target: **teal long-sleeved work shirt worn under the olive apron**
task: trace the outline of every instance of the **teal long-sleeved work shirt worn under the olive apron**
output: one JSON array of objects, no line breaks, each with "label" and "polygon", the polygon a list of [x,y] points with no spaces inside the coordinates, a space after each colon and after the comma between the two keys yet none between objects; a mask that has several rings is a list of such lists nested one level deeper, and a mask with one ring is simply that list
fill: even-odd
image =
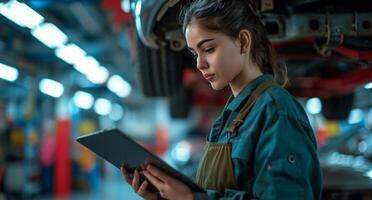
[{"label": "teal long-sleeved work shirt worn under the olive apron", "polygon": [[[229,99],[211,128],[209,142],[227,142],[228,125],[253,90],[269,79],[273,77],[262,75]],[[207,190],[195,193],[194,199],[321,198],[314,133],[304,109],[285,89],[275,86],[264,91],[230,142],[238,189],[226,188],[223,194]]]}]

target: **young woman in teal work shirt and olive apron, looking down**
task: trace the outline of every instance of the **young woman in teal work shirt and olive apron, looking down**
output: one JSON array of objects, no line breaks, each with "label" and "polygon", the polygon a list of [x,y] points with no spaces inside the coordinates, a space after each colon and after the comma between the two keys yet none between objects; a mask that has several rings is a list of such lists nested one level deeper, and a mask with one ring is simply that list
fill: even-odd
[{"label": "young woman in teal work shirt and olive apron, looking down", "polygon": [[[215,90],[232,96],[214,122],[192,193],[183,183],[148,166],[142,173],[160,198],[320,199],[322,177],[316,140],[301,105],[281,86],[278,65],[260,18],[247,0],[197,0],[183,12],[187,45]],[[148,182],[126,181],[145,199],[157,199]]]}]

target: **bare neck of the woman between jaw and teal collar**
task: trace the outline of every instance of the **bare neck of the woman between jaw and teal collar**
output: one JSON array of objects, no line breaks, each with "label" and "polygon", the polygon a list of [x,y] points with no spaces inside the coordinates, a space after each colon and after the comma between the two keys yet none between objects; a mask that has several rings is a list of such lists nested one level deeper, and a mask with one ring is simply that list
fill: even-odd
[{"label": "bare neck of the woman between jaw and teal collar", "polygon": [[247,66],[245,67],[231,82],[230,89],[234,97],[243,90],[243,88],[248,85],[252,80],[261,76],[262,72],[258,66]]}]

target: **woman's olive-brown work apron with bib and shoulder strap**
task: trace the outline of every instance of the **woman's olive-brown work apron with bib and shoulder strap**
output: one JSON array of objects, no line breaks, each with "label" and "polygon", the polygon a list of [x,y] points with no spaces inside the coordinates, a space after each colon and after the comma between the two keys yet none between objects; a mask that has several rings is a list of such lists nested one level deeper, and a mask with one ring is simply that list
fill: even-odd
[{"label": "woman's olive-brown work apron with bib and shoulder strap", "polygon": [[[251,94],[248,101],[239,111],[236,118],[229,124],[227,129],[228,139],[225,144],[207,142],[196,173],[197,183],[205,189],[216,190],[223,193],[225,188],[237,189],[231,160],[230,139],[236,135],[236,130],[243,123],[249,110],[254,105],[258,96],[271,86],[276,85],[273,80],[261,83]],[[221,127],[219,133],[221,133]]]}]

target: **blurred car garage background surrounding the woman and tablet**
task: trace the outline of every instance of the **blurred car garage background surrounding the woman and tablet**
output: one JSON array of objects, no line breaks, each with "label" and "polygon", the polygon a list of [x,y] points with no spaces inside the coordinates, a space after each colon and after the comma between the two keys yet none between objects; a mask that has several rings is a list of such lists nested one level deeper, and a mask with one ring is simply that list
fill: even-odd
[{"label": "blurred car garage background surrounding the woman and tablet", "polygon": [[[0,199],[141,199],[75,142],[104,128],[194,177],[230,91],[194,67],[177,17],[185,3],[0,0]],[[255,8],[316,134],[323,199],[372,199],[372,5]]]}]

